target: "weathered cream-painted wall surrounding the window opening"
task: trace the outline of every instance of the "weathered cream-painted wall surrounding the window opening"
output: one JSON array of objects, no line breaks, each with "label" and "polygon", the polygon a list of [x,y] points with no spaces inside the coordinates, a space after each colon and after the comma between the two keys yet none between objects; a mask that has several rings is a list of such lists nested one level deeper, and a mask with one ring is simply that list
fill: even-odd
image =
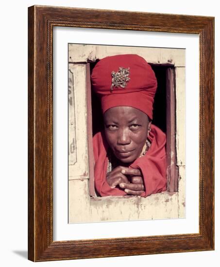
[{"label": "weathered cream-painted wall surrounding the window opening", "polygon": [[[137,53],[149,63],[171,63],[175,67],[179,189],[175,193],[163,192],[147,198],[93,199],[88,191],[85,63],[124,53]],[[72,83],[69,79],[69,223],[185,217],[185,50],[70,44],[69,77],[72,77]]]}]

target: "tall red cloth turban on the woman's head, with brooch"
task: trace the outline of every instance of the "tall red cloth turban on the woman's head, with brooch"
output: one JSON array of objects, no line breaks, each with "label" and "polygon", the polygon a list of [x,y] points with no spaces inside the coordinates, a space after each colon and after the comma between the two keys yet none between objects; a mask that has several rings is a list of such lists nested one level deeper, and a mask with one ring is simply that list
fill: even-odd
[{"label": "tall red cloth turban on the woman's head, with brooch", "polygon": [[116,106],[137,108],[152,119],[157,81],[152,67],[136,54],[101,59],[91,75],[93,90],[100,96],[102,112]]}]

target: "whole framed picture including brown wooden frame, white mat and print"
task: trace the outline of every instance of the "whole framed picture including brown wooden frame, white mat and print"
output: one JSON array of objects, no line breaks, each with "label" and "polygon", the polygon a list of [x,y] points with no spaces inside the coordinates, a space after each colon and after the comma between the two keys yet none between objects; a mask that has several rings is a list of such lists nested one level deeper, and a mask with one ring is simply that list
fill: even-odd
[{"label": "whole framed picture including brown wooden frame, white mat and print", "polygon": [[[28,20],[28,258],[214,250],[214,17],[32,6]],[[148,32],[161,42],[125,46]],[[162,48],[164,33],[196,34],[196,52]]]}]

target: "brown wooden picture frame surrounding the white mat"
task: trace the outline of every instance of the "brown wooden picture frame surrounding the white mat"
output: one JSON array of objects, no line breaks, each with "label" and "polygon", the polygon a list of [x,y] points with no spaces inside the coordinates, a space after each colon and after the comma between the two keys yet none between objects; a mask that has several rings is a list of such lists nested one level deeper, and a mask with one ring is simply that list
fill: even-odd
[{"label": "brown wooden picture frame surrounding the white mat", "polygon": [[[32,6],[28,13],[28,258],[32,261],[214,250],[214,18]],[[53,27],[197,33],[199,233],[53,241]]]}]

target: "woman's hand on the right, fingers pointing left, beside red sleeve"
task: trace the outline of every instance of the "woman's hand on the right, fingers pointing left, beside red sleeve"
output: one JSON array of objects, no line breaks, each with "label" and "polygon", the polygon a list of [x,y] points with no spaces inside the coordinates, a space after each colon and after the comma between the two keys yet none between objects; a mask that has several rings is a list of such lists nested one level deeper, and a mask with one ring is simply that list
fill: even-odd
[{"label": "woman's hand on the right, fingers pointing left, beside red sleeve", "polygon": [[124,189],[128,195],[140,196],[144,192],[144,182],[141,171],[137,168],[124,168],[122,174],[129,177],[131,183],[120,183],[120,188]]}]

